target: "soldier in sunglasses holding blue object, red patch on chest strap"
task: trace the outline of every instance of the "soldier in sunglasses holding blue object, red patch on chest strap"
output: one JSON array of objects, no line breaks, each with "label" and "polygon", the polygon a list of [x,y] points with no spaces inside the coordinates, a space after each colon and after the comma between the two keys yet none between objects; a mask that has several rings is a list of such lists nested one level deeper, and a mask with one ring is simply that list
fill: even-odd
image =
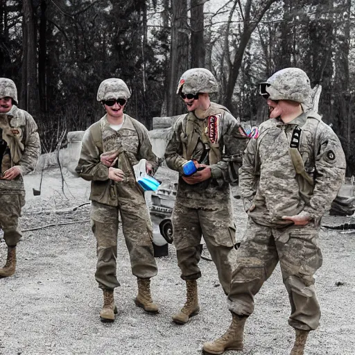
[{"label": "soldier in sunglasses holding blue object, red patch on chest strap", "polygon": [[[175,122],[166,147],[166,164],[180,173],[173,210],[173,239],[181,277],[187,285],[187,301],[173,315],[177,324],[188,322],[200,310],[197,279],[201,277],[201,235],[226,294],[230,292],[236,259],[230,182],[238,180],[247,137],[227,108],[209,100],[209,93],[217,91],[216,78],[207,69],[190,69],[182,75],[178,94],[189,113]],[[187,177],[182,166],[190,159],[202,170]]]}]

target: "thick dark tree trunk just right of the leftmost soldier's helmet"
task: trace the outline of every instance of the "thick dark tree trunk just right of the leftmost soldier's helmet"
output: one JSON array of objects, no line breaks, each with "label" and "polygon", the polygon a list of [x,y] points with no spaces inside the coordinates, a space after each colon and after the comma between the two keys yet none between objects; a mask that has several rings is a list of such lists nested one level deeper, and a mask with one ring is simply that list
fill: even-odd
[{"label": "thick dark tree trunk just right of the leftmost soldier's helmet", "polygon": [[31,0],[23,0],[22,11],[24,20],[23,33],[23,58],[22,58],[22,85],[21,107],[31,114],[39,112],[39,94],[37,87],[37,61],[36,61],[36,31],[33,18],[33,5]]}]

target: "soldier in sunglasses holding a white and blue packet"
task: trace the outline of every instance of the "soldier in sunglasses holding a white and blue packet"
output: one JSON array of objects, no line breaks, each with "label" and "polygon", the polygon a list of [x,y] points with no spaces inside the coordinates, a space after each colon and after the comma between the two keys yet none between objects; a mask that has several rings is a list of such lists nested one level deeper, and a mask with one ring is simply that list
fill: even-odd
[{"label": "soldier in sunglasses holding a white and blue packet", "polygon": [[144,192],[135,179],[132,166],[146,159],[147,172],[153,173],[159,159],[152,151],[148,131],[138,121],[123,113],[130,90],[121,79],[104,80],[98,88],[97,100],[106,110],[82,141],[76,171],[92,181],[92,230],[97,241],[96,281],[103,289],[103,322],[113,322],[116,306],[117,232],[121,214],[123,236],[130,254],[132,274],[137,277],[137,306],[157,313],[150,296],[150,277],[157,275],[153,254],[153,228],[150,223]]}]

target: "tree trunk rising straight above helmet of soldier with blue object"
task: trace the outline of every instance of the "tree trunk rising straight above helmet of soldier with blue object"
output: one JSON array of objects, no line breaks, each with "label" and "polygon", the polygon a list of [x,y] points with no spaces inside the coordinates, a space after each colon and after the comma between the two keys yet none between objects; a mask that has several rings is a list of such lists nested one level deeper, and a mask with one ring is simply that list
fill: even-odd
[{"label": "tree trunk rising straight above helmet of soldier with blue object", "polygon": [[191,67],[205,67],[203,3],[191,0]]}]

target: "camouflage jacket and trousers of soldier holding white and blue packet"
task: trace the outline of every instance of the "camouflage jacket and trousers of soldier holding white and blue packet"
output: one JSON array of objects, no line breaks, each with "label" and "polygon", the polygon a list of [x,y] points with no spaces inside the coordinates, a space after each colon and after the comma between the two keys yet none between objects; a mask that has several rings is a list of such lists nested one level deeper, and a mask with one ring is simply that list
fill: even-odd
[{"label": "camouflage jacket and trousers of soldier holding white and blue packet", "polygon": [[[125,173],[123,182],[110,180],[108,167],[100,161],[101,153],[112,150],[119,150],[118,167]],[[103,289],[119,286],[116,278],[119,214],[133,275],[144,279],[157,275],[153,229],[144,193],[132,168],[140,159],[147,159],[155,168],[158,166],[159,159],[152,152],[148,131],[127,114],[119,131],[110,128],[105,115],[85,132],[76,171],[85,180],[92,181],[90,217],[98,254],[95,277]]]}]

